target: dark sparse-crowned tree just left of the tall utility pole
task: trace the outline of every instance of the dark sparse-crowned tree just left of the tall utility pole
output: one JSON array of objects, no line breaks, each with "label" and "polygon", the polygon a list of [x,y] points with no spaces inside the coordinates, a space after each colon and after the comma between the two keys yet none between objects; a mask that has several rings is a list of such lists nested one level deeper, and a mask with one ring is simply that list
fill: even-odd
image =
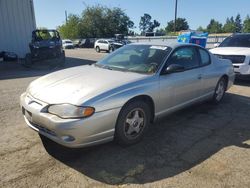
[{"label": "dark sparse-crowned tree just left of the tall utility pole", "polygon": [[152,17],[149,14],[144,14],[141,17],[139,28],[142,33],[153,32],[155,28],[160,26],[160,23],[157,20],[151,21]]}]

